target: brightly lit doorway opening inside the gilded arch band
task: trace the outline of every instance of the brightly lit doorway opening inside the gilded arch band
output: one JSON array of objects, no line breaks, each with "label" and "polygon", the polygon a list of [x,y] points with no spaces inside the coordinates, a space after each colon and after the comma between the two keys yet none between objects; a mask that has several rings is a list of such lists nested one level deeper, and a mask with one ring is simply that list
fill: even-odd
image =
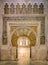
[{"label": "brightly lit doorway opening inside the gilded arch band", "polygon": [[30,59],[30,40],[26,36],[18,38],[18,59],[29,60]]}]

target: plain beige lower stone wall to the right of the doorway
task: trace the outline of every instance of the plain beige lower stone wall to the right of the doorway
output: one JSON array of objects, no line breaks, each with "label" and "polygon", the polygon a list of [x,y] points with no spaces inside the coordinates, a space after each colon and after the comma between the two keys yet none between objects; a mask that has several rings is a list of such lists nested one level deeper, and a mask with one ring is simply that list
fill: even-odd
[{"label": "plain beige lower stone wall to the right of the doorway", "polygon": [[32,47],[32,60],[46,60],[47,48],[45,45],[40,45],[39,48]]}]

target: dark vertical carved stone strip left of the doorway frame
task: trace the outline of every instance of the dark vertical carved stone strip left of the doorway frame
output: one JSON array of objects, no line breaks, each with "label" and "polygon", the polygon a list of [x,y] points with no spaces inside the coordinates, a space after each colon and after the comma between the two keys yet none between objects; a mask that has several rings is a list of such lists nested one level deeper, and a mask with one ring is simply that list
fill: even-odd
[{"label": "dark vertical carved stone strip left of the doorway frame", "polygon": [[7,19],[3,19],[3,44],[6,45],[7,44]]}]

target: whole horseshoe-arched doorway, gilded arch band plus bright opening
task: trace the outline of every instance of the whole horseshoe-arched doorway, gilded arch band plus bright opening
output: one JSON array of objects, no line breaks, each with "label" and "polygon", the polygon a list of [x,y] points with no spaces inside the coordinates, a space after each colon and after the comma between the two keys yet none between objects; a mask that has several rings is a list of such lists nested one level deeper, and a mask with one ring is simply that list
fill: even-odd
[{"label": "whole horseshoe-arched doorway, gilded arch band plus bright opening", "polygon": [[31,48],[36,44],[36,34],[34,30],[31,30],[28,27],[19,27],[13,31],[11,43],[13,47],[16,47],[16,59],[29,60],[32,56]]}]

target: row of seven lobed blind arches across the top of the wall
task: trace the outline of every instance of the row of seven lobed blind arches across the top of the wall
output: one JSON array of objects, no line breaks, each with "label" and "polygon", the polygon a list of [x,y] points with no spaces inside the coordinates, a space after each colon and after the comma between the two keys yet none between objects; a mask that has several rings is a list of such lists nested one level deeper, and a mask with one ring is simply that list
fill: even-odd
[{"label": "row of seven lobed blind arches across the top of the wall", "polygon": [[[9,8],[10,6],[10,8]],[[8,5],[8,3],[4,6],[4,14],[43,14],[44,13],[44,5],[41,3],[37,5],[35,3],[33,6],[29,3],[27,6],[25,3],[20,7],[19,3],[17,3],[16,8],[13,3]],[[39,7],[38,7],[39,6]]]}]

